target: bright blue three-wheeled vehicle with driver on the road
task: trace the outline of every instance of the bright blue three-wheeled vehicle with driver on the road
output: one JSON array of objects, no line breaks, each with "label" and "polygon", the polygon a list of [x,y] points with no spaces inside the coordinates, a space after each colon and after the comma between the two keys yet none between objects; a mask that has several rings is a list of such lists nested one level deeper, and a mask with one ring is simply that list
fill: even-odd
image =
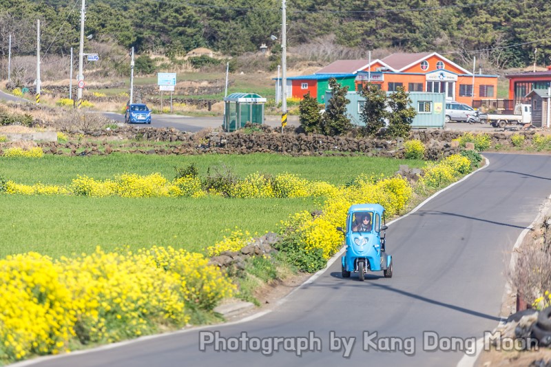
[{"label": "bright blue three-wheeled vehicle with driver on the road", "polygon": [[384,207],[379,204],[357,204],[349,208],[344,233],[346,253],[342,256],[342,277],[357,273],[364,281],[368,271],[383,271],[392,277],[392,256],[385,249]]}]

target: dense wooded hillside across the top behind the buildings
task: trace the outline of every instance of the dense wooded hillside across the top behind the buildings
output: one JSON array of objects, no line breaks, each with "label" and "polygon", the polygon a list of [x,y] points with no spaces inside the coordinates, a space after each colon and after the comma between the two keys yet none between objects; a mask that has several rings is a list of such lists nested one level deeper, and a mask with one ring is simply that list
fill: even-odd
[{"label": "dense wooded hillside across the top behind the buildings", "polygon": [[[266,0],[89,0],[85,33],[94,41],[138,53],[183,55],[199,47],[231,56],[277,52],[281,2]],[[68,54],[79,45],[81,1],[0,0],[0,55],[33,54],[36,19],[43,50]],[[287,41],[306,59],[366,57],[367,50],[435,51],[464,65],[473,57],[486,68],[551,63],[551,2],[345,1],[287,3]],[[88,41],[87,41],[88,42]],[[298,46],[301,46],[300,48]],[[534,53],[537,48],[538,52]],[[77,48],[78,50],[78,48]],[[386,56],[384,52],[380,56]],[[274,65],[270,66],[273,70]]]}]

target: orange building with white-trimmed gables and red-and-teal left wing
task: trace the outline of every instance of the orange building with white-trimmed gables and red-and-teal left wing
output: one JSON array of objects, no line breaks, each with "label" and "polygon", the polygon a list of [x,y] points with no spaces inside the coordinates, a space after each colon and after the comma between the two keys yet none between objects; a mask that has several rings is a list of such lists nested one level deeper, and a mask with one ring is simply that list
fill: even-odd
[{"label": "orange building with white-trimmed gables and red-and-teal left wing", "polygon": [[468,105],[475,99],[497,98],[497,75],[472,74],[436,52],[391,54],[371,62],[335,61],[313,75],[287,78],[287,96],[302,98],[310,92],[322,101],[330,76],[356,91],[371,82],[388,92],[404,87],[406,92],[444,93],[446,100]]}]

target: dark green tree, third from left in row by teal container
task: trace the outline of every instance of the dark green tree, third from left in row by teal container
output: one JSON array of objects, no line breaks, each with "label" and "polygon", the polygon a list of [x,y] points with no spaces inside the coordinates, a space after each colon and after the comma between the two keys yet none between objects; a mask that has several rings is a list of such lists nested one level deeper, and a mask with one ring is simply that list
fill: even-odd
[{"label": "dark green tree, third from left in row by teal container", "polygon": [[362,89],[360,95],[366,98],[364,109],[360,119],[364,123],[363,128],[366,136],[375,135],[386,124],[388,112],[386,111],[386,92],[375,84],[368,83]]}]

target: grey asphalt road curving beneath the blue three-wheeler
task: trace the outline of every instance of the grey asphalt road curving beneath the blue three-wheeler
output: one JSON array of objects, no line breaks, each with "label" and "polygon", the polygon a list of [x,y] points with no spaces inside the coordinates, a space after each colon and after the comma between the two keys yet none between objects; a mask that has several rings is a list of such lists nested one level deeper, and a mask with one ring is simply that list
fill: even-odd
[{"label": "grey asphalt road curving beneath the blue three-wheeler", "polygon": [[[474,351],[471,343],[497,326],[512,246],[551,193],[550,156],[487,156],[486,169],[391,224],[387,251],[395,261],[393,278],[373,273],[365,282],[355,275],[342,279],[337,261],[271,313],[201,329],[218,331],[220,337],[247,333],[262,338],[266,344],[260,348],[275,343],[269,338],[307,337],[312,331],[310,341],[318,351],[298,357],[282,344],[267,356],[251,350],[256,341],[247,351],[217,353],[212,345],[200,351],[200,331],[193,330],[46,359],[37,366],[455,366],[462,348],[423,350],[433,347],[423,333],[438,333],[442,346],[444,337],[467,338],[464,349]],[[335,339],[331,342],[331,332],[355,338],[348,357]],[[377,336],[364,344],[364,332]],[[389,341],[384,337],[403,338],[402,350],[382,351]]]}]

